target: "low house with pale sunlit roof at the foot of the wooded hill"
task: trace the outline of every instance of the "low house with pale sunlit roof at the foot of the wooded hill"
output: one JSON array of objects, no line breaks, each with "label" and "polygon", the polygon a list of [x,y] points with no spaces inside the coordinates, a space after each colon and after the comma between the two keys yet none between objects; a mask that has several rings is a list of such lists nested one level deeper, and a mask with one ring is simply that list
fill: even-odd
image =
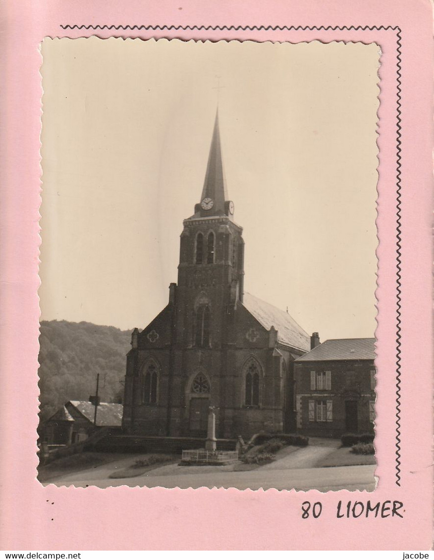
[{"label": "low house with pale sunlit roof at the foot of the wooded hill", "polygon": [[120,428],[122,404],[100,403],[95,406],[86,400],[69,400],[44,424],[44,440],[52,445],[71,445],[86,440],[102,427]]}]

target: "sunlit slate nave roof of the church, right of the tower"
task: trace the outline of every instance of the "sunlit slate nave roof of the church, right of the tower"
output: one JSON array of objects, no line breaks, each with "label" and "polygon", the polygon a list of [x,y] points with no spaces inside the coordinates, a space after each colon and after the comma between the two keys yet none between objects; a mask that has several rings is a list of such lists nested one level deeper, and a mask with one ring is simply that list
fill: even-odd
[{"label": "sunlit slate nave roof of the church, right of the tower", "polygon": [[309,335],[286,311],[282,311],[274,307],[274,305],[270,305],[266,301],[260,300],[258,297],[246,292],[242,299],[242,305],[250,311],[265,329],[270,330],[274,326],[277,330],[279,342],[305,351],[309,350]]}]

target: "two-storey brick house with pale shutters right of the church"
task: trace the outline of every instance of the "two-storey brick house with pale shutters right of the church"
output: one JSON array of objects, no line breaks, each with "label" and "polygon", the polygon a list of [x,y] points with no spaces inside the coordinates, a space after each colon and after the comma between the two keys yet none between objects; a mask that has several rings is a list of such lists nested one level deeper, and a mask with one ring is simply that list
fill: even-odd
[{"label": "two-storey brick house with pale shutters right of the church", "polygon": [[294,363],[297,432],[321,437],[373,432],[374,359],[375,338],[322,344],[316,338]]}]

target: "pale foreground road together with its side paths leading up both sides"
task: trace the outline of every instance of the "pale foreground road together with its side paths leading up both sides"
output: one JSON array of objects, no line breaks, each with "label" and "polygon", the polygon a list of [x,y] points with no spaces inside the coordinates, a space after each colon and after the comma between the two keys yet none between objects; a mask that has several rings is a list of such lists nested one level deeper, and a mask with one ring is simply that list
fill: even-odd
[{"label": "pale foreground road together with its side paths leading up both sides", "polygon": [[[138,477],[111,479],[109,475],[134,464],[146,454],[125,456],[81,472],[63,474],[53,480],[56,486],[147,486],[155,488],[239,488],[253,490],[276,488],[278,490],[320,491],[368,490],[375,488],[375,465],[334,466],[315,468],[321,459],[332,453],[339,440],[312,438],[313,445],[302,448],[284,447],[277,453],[276,461],[254,470],[234,471],[235,465],[179,466],[177,463],[156,466]],[[45,483],[45,485],[48,483]]]}]

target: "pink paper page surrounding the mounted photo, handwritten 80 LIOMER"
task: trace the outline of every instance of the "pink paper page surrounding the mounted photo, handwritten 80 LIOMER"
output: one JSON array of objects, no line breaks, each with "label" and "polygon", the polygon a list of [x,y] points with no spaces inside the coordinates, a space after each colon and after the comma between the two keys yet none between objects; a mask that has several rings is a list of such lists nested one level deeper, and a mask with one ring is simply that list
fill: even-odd
[{"label": "pink paper page surrounding the mounted photo, handwritten 80 LIOMER", "polygon": [[[432,544],[432,15],[428,0],[15,1],[3,5],[1,180],[4,549],[430,549]],[[225,26],[223,30],[62,30],[60,24]],[[236,30],[230,26],[398,26],[402,31],[401,465],[396,484],[396,183],[398,30]],[[36,481],[39,133],[44,36],[334,40],[381,46],[379,287],[376,336],[379,485],[374,493],[57,488]],[[6,380],[6,382],[5,382]],[[337,519],[339,500],[400,500],[404,519]],[[321,501],[319,519],[301,503]],[[54,504],[52,504],[54,502]],[[53,519],[53,520],[52,520]]]}]

